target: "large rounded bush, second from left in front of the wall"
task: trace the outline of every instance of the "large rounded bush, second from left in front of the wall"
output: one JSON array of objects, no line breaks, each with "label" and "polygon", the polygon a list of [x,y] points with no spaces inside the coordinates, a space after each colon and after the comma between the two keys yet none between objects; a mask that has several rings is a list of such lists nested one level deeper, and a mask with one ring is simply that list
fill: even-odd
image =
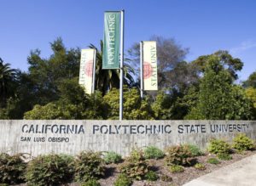
[{"label": "large rounded bush, second from left in front of the wall", "polygon": [[40,155],[30,161],[26,181],[32,185],[57,185],[73,179],[73,157],[69,155]]}]

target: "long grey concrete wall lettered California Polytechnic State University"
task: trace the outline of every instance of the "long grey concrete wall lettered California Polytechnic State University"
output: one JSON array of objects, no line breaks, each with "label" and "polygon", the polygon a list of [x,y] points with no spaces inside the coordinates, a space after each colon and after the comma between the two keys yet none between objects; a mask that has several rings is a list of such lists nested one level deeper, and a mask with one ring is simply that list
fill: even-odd
[{"label": "long grey concrete wall lettered California Polytechnic State University", "polygon": [[0,151],[9,154],[77,155],[113,150],[129,155],[134,147],[172,144],[207,147],[210,138],[231,140],[244,132],[256,138],[256,121],[11,121],[0,120]]}]

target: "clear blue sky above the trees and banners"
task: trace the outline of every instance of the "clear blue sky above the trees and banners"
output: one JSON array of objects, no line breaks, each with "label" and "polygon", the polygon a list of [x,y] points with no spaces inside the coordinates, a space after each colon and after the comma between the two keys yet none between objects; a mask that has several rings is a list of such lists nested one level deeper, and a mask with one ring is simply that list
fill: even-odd
[{"label": "clear blue sky above the trees and banners", "polygon": [[125,9],[125,49],[152,35],[174,37],[189,48],[191,61],[218,49],[244,62],[246,80],[256,70],[256,1],[254,0],[0,0],[0,57],[27,70],[26,58],[62,37],[67,48],[98,46],[103,13]]}]

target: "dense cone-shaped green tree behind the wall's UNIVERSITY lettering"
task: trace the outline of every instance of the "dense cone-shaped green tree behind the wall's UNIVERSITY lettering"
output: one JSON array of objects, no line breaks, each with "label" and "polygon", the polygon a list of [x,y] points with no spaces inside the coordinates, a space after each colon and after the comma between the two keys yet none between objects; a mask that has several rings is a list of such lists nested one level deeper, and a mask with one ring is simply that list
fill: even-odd
[{"label": "dense cone-shaped green tree behind the wall's UNIVERSITY lettering", "polygon": [[252,117],[252,104],[241,87],[232,84],[234,76],[224,68],[222,59],[207,59],[201,79],[198,103],[186,119],[241,120]]}]

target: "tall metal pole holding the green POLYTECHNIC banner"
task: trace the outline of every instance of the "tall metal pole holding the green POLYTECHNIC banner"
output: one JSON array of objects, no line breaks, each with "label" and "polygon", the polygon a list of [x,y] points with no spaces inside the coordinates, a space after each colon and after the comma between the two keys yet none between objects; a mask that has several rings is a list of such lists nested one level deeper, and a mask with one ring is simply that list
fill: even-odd
[{"label": "tall metal pole holding the green POLYTECHNIC banner", "polygon": [[119,121],[123,120],[123,78],[124,78],[124,20],[125,10],[121,11],[121,39],[120,39],[120,87],[119,87]]}]

